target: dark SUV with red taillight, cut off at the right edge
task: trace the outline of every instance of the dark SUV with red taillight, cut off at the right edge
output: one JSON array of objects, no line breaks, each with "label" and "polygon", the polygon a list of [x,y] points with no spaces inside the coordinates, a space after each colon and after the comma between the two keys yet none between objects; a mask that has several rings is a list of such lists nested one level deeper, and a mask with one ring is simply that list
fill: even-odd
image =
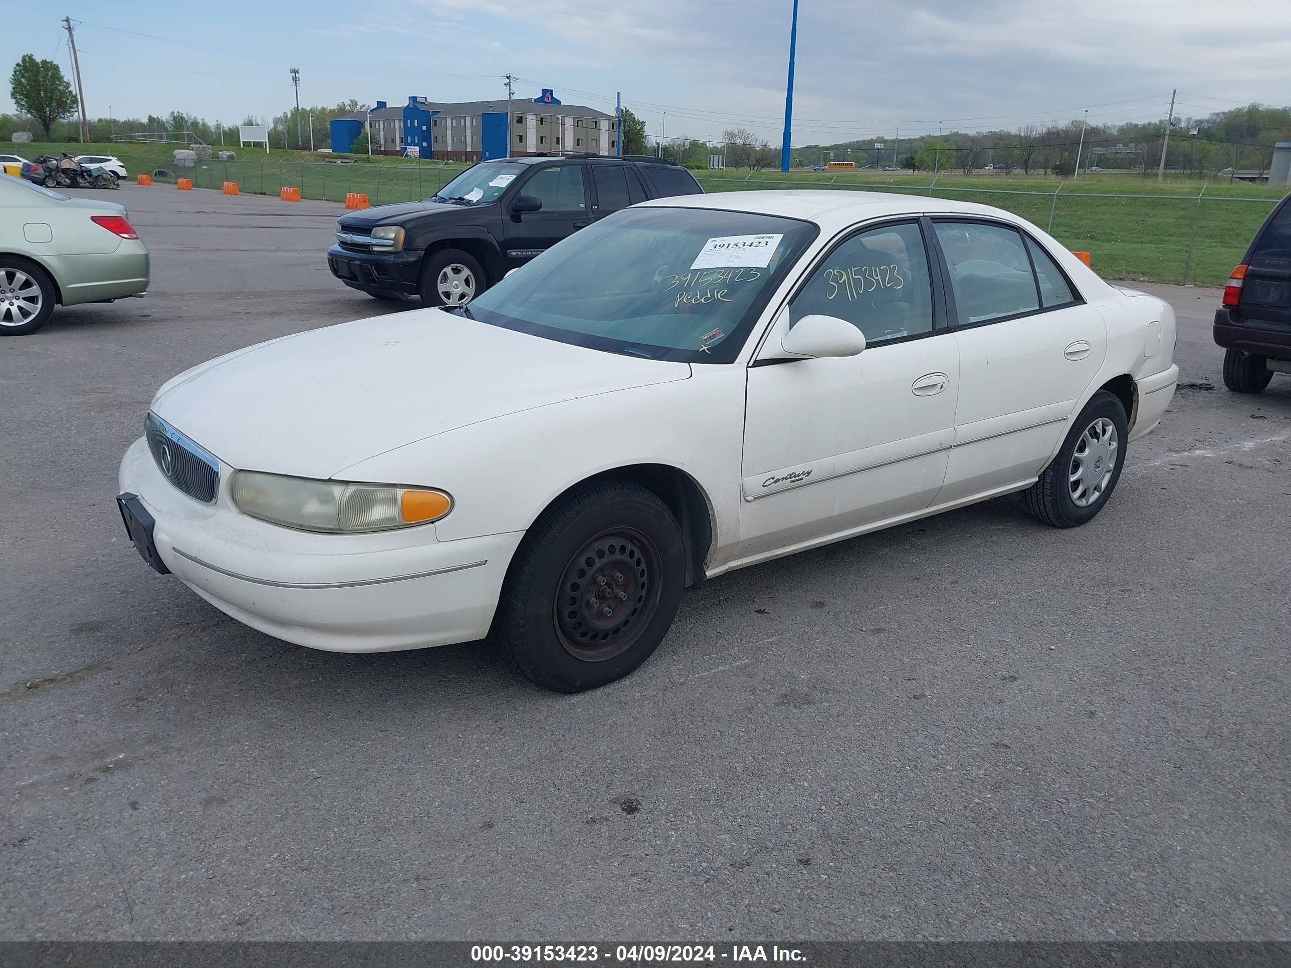
[{"label": "dark SUV with red taillight, cut off at the right edge", "polygon": [[1215,312],[1224,354],[1224,386],[1259,394],[1274,373],[1291,373],[1291,195],[1273,209]]}]

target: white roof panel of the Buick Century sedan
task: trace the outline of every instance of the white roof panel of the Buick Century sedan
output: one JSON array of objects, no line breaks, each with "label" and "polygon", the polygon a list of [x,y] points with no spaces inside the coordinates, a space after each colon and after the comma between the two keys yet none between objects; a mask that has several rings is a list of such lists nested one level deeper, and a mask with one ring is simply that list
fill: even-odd
[{"label": "white roof panel of the Buick Century sedan", "polygon": [[753,212],[815,222],[824,228],[840,228],[855,222],[886,216],[935,212],[986,216],[1020,223],[1017,216],[990,205],[926,195],[900,195],[886,191],[847,191],[828,188],[782,188],[767,191],[720,191],[706,195],[678,195],[640,203],[664,208],[709,208],[726,212]]}]

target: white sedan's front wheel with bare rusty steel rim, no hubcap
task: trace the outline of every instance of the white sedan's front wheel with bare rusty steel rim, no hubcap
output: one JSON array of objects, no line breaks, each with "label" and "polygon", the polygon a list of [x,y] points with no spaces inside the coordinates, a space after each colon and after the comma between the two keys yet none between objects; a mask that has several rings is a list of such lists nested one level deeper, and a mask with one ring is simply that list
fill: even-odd
[{"label": "white sedan's front wheel with bare rusty steel rim, no hubcap", "polygon": [[529,529],[502,589],[494,636],[529,681],[563,693],[595,689],[658,648],[682,603],[684,572],[682,529],[656,494],[626,481],[589,484]]}]

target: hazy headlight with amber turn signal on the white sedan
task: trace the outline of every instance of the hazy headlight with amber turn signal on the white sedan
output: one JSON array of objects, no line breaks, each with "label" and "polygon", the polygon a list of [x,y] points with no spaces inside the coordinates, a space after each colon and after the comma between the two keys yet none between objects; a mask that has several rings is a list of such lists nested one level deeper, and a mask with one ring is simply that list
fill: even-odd
[{"label": "hazy headlight with amber turn signal on the white sedan", "polygon": [[438,521],[453,510],[453,498],[431,488],[349,484],[281,474],[238,471],[232,480],[238,509],[288,528],[365,532]]}]

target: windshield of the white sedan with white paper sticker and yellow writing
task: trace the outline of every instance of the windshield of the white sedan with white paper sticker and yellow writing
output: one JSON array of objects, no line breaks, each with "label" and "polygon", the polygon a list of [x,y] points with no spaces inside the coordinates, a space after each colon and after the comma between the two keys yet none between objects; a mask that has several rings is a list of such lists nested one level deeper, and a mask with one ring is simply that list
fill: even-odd
[{"label": "windshield of the white sedan with white paper sticker and yellow writing", "polygon": [[595,350],[729,363],[816,232],[746,212],[624,209],[476,296],[463,315]]}]

